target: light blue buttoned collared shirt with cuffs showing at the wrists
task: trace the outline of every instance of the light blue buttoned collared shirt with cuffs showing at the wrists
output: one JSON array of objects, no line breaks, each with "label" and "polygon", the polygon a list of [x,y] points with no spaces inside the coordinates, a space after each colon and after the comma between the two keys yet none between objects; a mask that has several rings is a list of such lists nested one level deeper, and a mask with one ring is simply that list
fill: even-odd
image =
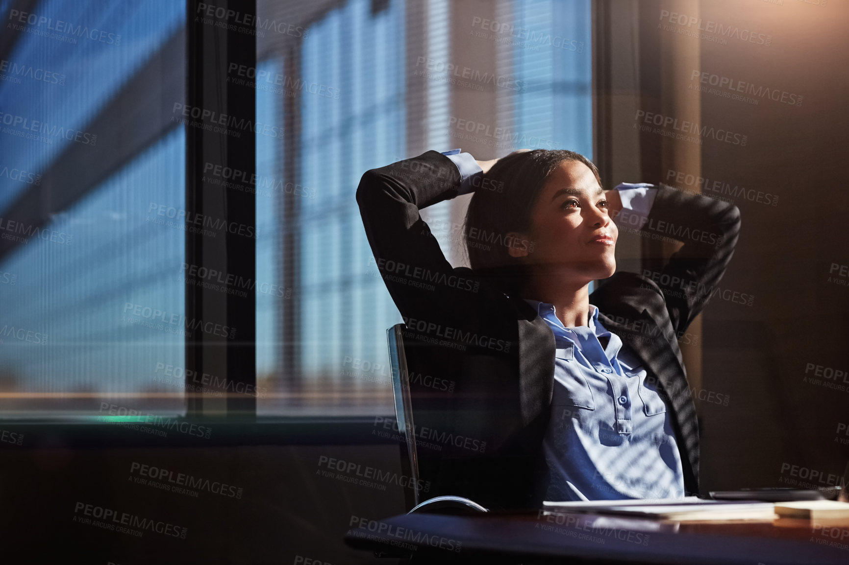
[{"label": "light blue buttoned collared shirt with cuffs showing at the wrists", "polygon": [[[458,193],[471,192],[483,172],[459,149],[445,154],[457,165]],[[616,186],[628,226],[640,228],[654,203],[654,185]],[[554,333],[551,418],[543,439],[550,471],[547,501],[680,498],[683,469],[671,413],[646,383],[642,361],[599,322],[589,305],[588,326],[564,327],[554,306],[526,299]],[[602,345],[599,338],[606,338]]]}]

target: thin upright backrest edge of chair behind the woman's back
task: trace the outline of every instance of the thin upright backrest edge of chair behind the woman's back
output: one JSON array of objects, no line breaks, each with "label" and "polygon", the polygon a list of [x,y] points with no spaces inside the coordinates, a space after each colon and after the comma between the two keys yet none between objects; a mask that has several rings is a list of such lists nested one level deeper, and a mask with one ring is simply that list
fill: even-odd
[{"label": "thin upright backrest edge of chair behind the woman's back", "polygon": [[413,426],[413,401],[410,398],[410,373],[407,355],[404,354],[402,331],[404,324],[396,324],[386,330],[389,344],[389,366],[392,373],[392,395],[395,398],[395,419],[401,441],[402,473],[410,478],[412,489],[405,489],[407,510],[419,506],[419,459],[416,456],[416,434]]}]

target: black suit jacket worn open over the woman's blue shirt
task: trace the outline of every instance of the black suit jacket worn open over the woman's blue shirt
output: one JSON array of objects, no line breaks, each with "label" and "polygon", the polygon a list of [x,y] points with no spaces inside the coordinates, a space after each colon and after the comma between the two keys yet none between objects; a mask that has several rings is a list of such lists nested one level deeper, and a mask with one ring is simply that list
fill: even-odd
[{"label": "black suit jacket worn open over the woman's blue shirt", "polygon": [[[542,445],[554,390],[554,334],[520,296],[469,268],[453,268],[442,255],[419,210],[455,197],[460,182],[451,159],[427,151],[366,171],[357,187],[368,242],[407,325],[419,473],[430,482],[423,494],[462,495],[496,508],[536,506],[548,473]],[[590,302],[665,396],[684,486],[697,493],[699,426],[678,338],[733,255],[739,210],[661,185],[649,222],[659,235],[683,241],[663,266],[665,276],[654,277],[670,288],[616,272]],[[503,244],[498,234],[482,234],[479,243]]]}]

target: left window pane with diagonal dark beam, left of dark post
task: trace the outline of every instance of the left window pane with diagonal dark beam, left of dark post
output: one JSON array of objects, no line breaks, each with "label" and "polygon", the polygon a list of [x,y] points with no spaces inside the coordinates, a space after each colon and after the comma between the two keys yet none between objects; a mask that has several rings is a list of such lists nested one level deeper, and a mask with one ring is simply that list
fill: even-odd
[{"label": "left window pane with diagonal dark beam, left of dark post", "polygon": [[31,5],[0,10],[0,415],[182,414],[185,5]]}]

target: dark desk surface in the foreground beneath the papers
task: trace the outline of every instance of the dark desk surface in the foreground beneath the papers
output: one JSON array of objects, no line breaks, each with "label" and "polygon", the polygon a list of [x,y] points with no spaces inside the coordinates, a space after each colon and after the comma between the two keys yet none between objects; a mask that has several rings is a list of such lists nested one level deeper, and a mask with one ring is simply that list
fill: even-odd
[{"label": "dark desk surface in the foreground beneath the papers", "polygon": [[528,511],[402,514],[351,528],[348,545],[413,563],[849,564],[849,519],[677,523]]}]

